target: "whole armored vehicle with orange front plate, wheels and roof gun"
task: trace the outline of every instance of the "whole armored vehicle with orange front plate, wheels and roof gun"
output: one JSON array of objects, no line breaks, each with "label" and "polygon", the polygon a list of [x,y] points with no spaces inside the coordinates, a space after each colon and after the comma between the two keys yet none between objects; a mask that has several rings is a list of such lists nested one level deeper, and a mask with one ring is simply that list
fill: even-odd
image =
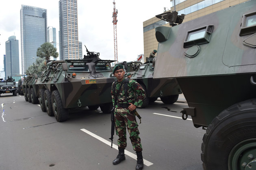
[{"label": "whole armored vehicle with orange front plate, wheels and roof gun", "polygon": [[103,113],[110,113],[110,92],[115,81],[111,62],[114,60],[101,60],[99,53],[88,50],[84,59],[48,62],[34,88],[41,110],[59,122],[67,120],[72,108],[100,107]]}]

